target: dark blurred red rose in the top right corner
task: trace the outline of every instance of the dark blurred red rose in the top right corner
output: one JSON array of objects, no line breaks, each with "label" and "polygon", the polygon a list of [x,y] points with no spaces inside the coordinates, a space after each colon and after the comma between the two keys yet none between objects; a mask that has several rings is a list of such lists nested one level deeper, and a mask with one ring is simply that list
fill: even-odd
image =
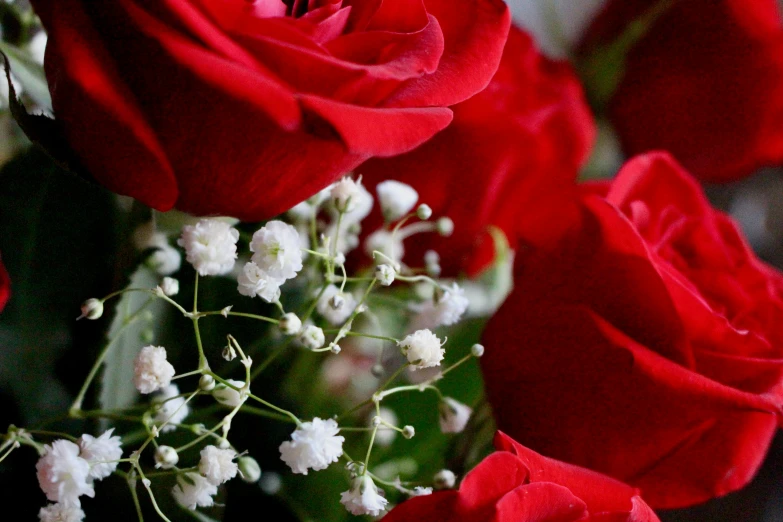
[{"label": "dark blurred red rose in the top right corner", "polygon": [[[658,0],[610,0],[583,51]],[[634,45],[609,113],[625,150],[670,151],[730,181],[783,160],[783,22],[775,0],[674,0]]]}]

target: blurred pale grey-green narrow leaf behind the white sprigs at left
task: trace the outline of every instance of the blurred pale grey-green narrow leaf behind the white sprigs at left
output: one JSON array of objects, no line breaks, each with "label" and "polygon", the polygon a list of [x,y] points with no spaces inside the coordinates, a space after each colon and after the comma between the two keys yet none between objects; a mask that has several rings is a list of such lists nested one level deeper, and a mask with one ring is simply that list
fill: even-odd
[{"label": "blurred pale grey-green narrow leaf behind the white sprigs at left", "polygon": [[[128,288],[155,288],[158,276],[146,266],[140,266],[131,276]],[[99,403],[104,410],[127,408],[136,401],[133,386],[133,360],[142,346],[151,344],[168,316],[168,307],[160,299],[142,292],[127,292],[117,302],[109,327],[108,341],[113,343],[104,362]],[[146,306],[147,313],[126,326],[127,320]]]}]

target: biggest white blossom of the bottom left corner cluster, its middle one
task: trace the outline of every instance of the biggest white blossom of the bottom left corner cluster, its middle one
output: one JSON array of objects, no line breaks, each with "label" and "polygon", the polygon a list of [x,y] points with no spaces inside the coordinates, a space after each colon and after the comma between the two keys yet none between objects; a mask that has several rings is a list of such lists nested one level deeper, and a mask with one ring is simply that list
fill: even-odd
[{"label": "biggest white blossom of the bottom left corner cluster, its middle one", "polygon": [[79,446],[69,440],[56,440],[44,446],[44,454],[35,469],[46,498],[64,508],[81,507],[81,495],[95,496],[90,463],[79,456]]}]

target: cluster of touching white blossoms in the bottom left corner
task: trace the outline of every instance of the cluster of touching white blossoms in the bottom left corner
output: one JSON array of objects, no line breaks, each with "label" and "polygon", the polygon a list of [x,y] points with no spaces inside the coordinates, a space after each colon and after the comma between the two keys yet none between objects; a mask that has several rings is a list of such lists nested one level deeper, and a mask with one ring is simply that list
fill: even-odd
[{"label": "cluster of touching white blossoms in the bottom left corner", "polygon": [[108,430],[100,437],[84,434],[78,444],[59,439],[44,446],[43,456],[35,465],[38,484],[55,504],[41,509],[38,516],[43,522],[78,522],[84,518],[79,497],[94,497],[93,482],[111,475],[122,458],[120,438],[112,432]]}]

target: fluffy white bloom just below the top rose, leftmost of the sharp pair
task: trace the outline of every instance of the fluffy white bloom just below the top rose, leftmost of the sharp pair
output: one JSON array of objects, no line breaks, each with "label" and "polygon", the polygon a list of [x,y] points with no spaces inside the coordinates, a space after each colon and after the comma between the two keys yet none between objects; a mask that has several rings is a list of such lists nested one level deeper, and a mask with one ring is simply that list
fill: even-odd
[{"label": "fluffy white bloom just below the top rose, leftmost of the sharp pair", "polygon": [[202,219],[182,229],[177,244],[188,263],[202,276],[227,274],[237,258],[239,232],[225,221]]}]

